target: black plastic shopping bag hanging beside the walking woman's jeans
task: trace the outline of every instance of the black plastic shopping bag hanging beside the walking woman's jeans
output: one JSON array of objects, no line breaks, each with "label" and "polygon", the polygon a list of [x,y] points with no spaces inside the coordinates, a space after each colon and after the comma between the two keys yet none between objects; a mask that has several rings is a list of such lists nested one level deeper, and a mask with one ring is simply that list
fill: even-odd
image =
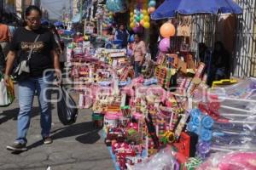
[{"label": "black plastic shopping bag hanging beside the walking woman's jeans", "polygon": [[61,87],[58,91],[57,103],[58,116],[63,125],[70,125],[76,122],[78,116],[78,108],[73,98],[67,94],[65,88]]}]

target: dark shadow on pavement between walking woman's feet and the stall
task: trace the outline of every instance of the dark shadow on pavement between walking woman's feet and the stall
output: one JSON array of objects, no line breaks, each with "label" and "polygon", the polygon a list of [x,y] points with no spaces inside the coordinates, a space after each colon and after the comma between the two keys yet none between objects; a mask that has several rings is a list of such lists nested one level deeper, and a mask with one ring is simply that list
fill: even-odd
[{"label": "dark shadow on pavement between walking woman's feet and the stall", "polygon": [[98,134],[99,131],[100,129],[96,129],[93,126],[93,122],[81,122],[71,126],[56,129],[52,132],[52,139],[62,139],[78,136],[76,140],[80,143],[94,144],[96,141],[101,139],[101,136]]}]

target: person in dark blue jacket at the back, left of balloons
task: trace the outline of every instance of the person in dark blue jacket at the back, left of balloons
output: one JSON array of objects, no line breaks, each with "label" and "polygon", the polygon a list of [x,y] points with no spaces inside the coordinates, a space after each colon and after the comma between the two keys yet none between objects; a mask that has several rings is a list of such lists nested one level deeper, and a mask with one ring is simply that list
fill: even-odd
[{"label": "person in dark blue jacket at the back, left of balloons", "polygon": [[130,37],[130,34],[125,29],[125,25],[123,25],[123,24],[121,24],[119,26],[119,29],[117,31],[115,31],[115,34],[114,34],[114,40],[120,40],[121,43],[122,43],[121,44],[122,48],[126,48],[127,47],[129,37]]}]

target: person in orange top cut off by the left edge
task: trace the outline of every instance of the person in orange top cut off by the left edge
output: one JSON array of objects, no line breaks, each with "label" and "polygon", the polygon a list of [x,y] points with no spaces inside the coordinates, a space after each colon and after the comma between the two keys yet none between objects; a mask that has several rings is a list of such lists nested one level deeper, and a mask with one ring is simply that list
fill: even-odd
[{"label": "person in orange top cut off by the left edge", "polygon": [[9,42],[11,39],[11,33],[9,31],[9,26],[6,24],[3,24],[2,21],[0,21],[0,45],[3,49],[3,54],[6,57],[9,51]]}]

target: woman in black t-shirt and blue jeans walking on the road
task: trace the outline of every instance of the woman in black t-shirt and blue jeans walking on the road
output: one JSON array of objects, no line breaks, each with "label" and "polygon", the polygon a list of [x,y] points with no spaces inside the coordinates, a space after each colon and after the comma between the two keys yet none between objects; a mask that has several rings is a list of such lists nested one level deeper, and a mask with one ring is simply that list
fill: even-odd
[{"label": "woman in black t-shirt and blue jeans walking on the road", "polygon": [[[54,80],[54,72],[58,78],[61,77],[59,56],[55,52],[57,44],[53,34],[47,28],[40,26],[42,12],[37,6],[26,8],[26,26],[15,31],[4,75],[5,84],[9,85],[9,75],[11,73],[14,60],[27,59],[31,49],[32,56],[29,60],[30,75],[26,79],[18,82],[20,112],[17,119],[17,139],[14,144],[7,146],[8,150],[27,150],[26,133],[30,125],[32,103],[35,91],[38,94],[38,102],[41,111],[41,135],[44,144],[51,144],[49,136],[51,128],[51,105],[49,87]],[[38,37],[38,41],[35,41]],[[16,54],[19,56],[16,56]]]}]

